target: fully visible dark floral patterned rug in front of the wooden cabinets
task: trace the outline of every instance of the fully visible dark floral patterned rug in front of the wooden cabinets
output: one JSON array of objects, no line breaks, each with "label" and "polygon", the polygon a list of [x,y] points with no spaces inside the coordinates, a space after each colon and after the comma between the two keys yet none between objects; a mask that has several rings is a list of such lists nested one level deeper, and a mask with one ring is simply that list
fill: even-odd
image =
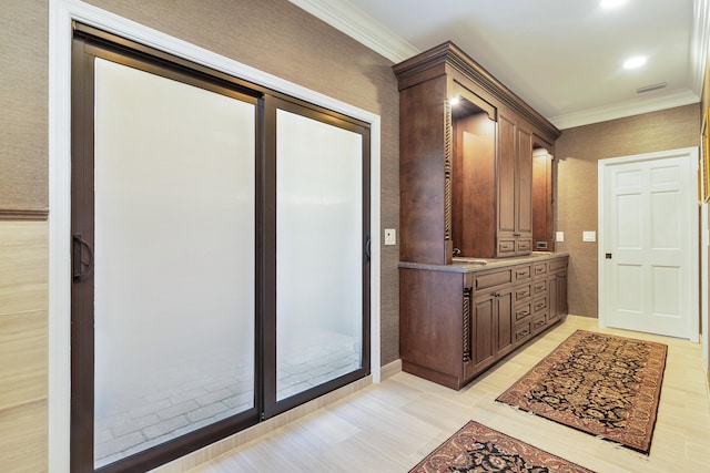
[{"label": "fully visible dark floral patterned rug in front of the wooden cabinets", "polygon": [[496,400],[648,454],[667,351],[577,330]]}]

